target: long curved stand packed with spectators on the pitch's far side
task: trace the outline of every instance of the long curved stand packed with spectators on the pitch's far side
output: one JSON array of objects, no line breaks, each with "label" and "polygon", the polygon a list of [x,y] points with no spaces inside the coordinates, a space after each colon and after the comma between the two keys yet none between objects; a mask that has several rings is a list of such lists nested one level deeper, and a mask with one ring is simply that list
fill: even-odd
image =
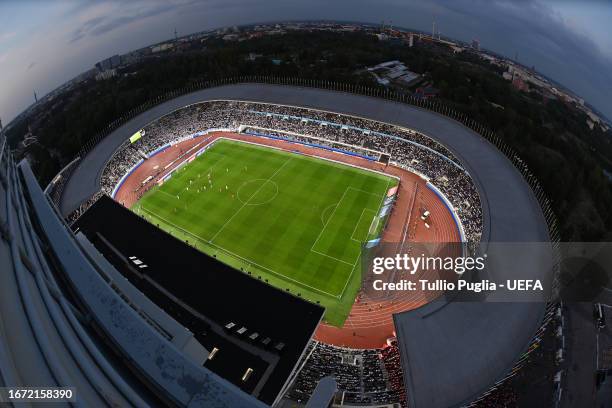
[{"label": "long curved stand packed with spectators on the pitch's far side", "polygon": [[371,158],[388,154],[392,164],[428,177],[455,208],[466,240],[480,241],[478,192],[446,147],[410,129],[306,108],[214,101],[179,109],[147,125],[136,143],[122,145],[104,170],[102,189],[110,194],[133,165],[162,146],[209,129],[238,130],[241,126],[252,134],[266,133]]}]

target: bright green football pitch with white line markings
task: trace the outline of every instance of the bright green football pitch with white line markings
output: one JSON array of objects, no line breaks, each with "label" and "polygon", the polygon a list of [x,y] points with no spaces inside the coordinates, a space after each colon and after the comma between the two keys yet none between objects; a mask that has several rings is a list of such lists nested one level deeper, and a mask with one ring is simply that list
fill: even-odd
[{"label": "bright green football pitch with white line markings", "polygon": [[320,303],[325,320],[341,326],[359,290],[361,245],[379,234],[376,216],[396,184],[371,171],[219,139],[132,210],[255,279]]}]

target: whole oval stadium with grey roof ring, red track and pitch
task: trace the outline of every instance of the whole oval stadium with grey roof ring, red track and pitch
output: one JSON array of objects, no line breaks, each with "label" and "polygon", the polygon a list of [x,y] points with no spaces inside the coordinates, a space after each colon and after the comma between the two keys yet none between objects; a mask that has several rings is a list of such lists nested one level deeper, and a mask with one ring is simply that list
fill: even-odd
[{"label": "whole oval stadium with grey roof ring, red track and pitch", "polygon": [[204,406],[477,403],[550,319],[544,303],[361,290],[362,250],[380,242],[472,248],[551,231],[523,169],[479,132],[344,91],[240,83],[173,95],[45,191],[134,318],[219,395],[239,395],[208,393],[219,399]]}]

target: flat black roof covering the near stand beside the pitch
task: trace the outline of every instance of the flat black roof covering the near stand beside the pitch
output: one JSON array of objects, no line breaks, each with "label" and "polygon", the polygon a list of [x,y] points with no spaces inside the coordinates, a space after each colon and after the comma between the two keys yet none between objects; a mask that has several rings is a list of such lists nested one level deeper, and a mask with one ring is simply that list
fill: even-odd
[{"label": "flat black roof covering the near stand beside the pitch", "polygon": [[322,307],[205,255],[107,196],[73,228],[209,352],[216,350],[204,367],[267,404],[277,399]]}]

